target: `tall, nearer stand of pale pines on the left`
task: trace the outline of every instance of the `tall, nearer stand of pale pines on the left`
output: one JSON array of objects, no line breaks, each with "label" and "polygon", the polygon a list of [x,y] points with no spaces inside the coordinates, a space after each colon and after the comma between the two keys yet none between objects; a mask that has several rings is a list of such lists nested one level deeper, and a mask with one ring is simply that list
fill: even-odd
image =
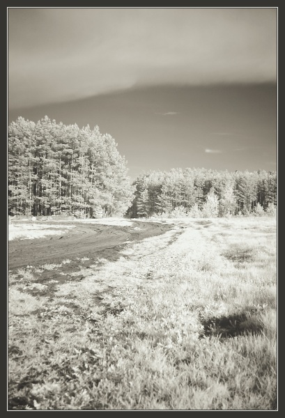
[{"label": "tall, nearer stand of pale pines on the left", "polygon": [[123,215],[134,186],[116,147],[97,125],[17,118],[8,127],[9,215]]}]

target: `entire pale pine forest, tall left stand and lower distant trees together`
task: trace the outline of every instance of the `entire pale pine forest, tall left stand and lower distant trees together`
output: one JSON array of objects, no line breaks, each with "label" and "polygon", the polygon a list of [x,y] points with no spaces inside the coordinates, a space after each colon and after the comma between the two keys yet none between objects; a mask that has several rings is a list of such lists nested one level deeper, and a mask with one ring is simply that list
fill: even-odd
[{"label": "entire pale pine forest, tall left stand and lower distant trees together", "polygon": [[171,169],[131,183],[109,134],[22,117],[8,127],[9,215],[210,217],[274,213],[276,171]]}]

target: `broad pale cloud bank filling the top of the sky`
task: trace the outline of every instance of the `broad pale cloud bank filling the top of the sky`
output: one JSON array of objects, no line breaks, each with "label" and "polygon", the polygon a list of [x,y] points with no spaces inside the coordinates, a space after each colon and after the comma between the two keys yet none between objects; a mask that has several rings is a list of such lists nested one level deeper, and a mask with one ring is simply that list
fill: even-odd
[{"label": "broad pale cloud bank filling the top of the sky", "polygon": [[134,86],[276,82],[276,13],[274,8],[10,8],[9,108]]}]

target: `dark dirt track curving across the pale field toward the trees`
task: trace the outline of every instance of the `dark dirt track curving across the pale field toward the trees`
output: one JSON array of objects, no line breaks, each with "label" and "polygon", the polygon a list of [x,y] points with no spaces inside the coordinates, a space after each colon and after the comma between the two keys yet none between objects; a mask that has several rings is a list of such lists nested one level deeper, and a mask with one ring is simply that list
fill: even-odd
[{"label": "dark dirt track curving across the pale field toward the trees", "polygon": [[[49,224],[59,225],[59,222]],[[72,221],[65,222],[65,225],[75,227],[63,235],[9,241],[8,269],[13,271],[26,265],[36,267],[45,263],[60,263],[65,258],[72,260],[88,257],[89,263],[98,258],[116,260],[126,241],[137,242],[171,229],[169,224],[139,221],[132,221],[132,226],[80,224]],[[136,227],[139,229],[134,229]]]}]

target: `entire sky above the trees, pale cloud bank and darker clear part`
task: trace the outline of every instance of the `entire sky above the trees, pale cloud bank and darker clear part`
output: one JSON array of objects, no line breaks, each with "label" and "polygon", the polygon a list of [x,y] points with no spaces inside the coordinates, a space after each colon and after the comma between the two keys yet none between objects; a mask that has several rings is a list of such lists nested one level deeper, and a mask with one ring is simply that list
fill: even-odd
[{"label": "entire sky above the trees, pale cloud bank and darker clear part", "polygon": [[98,125],[128,175],[277,168],[276,8],[8,8],[8,123]]}]

